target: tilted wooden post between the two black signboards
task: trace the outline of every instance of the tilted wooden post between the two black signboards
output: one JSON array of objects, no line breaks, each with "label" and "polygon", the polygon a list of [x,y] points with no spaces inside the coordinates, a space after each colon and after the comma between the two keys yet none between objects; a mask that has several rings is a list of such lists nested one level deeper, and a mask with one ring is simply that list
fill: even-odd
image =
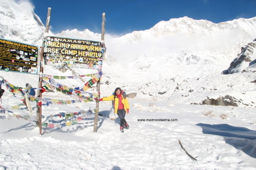
[{"label": "tilted wooden post between the two black signboards", "polygon": [[[51,8],[48,8],[48,13],[47,13],[47,19],[46,19],[46,26],[45,26],[45,33],[49,32],[49,27],[50,27],[50,19],[51,19]],[[44,37],[43,37],[44,38]],[[43,53],[44,53],[44,46],[41,47],[41,53],[40,53],[40,73],[44,72],[44,67],[43,67]],[[38,82],[38,87],[42,88],[43,82],[42,78],[39,77],[39,82]],[[38,90],[38,97],[42,99],[42,91]],[[36,111],[36,124],[39,126],[39,134],[42,135],[42,105],[38,106],[36,105],[37,111]]]}]

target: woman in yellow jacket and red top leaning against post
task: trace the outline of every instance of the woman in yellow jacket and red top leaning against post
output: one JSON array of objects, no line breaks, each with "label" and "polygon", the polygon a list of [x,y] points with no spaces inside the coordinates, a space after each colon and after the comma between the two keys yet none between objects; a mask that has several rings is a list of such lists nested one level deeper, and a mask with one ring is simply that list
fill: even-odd
[{"label": "woman in yellow jacket and red top leaning against post", "polygon": [[129,129],[129,125],[125,120],[125,114],[129,113],[129,103],[126,98],[126,94],[124,91],[121,90],[121,88],[116,88],[114,95],[111,95],[109,97],[103,97],[100,98],[99,101],[114,101],[114,112],[117,113],[118,117],[120,118],[120,131],[124,132],[124,128]]}]

